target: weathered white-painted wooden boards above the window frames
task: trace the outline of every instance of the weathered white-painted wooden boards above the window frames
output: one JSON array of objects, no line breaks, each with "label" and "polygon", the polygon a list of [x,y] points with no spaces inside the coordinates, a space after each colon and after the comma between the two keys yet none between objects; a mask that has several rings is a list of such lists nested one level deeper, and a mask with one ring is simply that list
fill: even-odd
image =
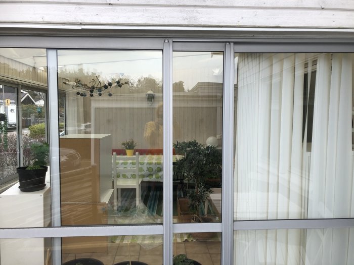
[{"label": "weathered white-painted wooden boards above the window frames", "polygon": [[0,27],[136,25],[354,28],[352,0],[0,1]]}]

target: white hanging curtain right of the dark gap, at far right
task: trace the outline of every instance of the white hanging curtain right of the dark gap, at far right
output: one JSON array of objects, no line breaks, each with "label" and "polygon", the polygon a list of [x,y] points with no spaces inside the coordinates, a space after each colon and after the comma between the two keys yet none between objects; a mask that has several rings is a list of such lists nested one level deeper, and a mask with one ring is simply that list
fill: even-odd
[{"label": "white hanging curtain right of the dark gap, at far right", "polygon": [[[352,56],[318,57],[311,166],[309,219],[353,217]],[[350,236],[349,236],[350,235]],[[307,231],[306,264],[353,264],[349,229]]]}]

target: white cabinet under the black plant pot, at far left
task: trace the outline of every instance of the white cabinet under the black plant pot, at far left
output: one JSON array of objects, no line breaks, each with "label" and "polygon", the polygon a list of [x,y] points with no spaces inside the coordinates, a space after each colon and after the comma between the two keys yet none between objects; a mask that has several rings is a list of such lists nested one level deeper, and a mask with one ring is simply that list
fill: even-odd
[{"label": "white cabinet under the black plant pot, at far left", "polygon": [[[49,172],[47,172],[49,176]],[[50,178],[42,190],[22,192],[19,183],[0,194],[0,227],[47,227],[51,224]],[[0,240],[1,265],[46,264],[52,252],[52,238]]]}]

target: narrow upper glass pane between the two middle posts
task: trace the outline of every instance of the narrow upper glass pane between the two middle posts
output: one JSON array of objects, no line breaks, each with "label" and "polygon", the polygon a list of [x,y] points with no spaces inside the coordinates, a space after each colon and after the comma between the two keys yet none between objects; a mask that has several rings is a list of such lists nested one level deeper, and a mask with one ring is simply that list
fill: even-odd
[{"label": "narrow upper glass pane between the two middle posts", "polygon": [[175,223],[220,222],[223,60],[223,52],[173,52]]}]

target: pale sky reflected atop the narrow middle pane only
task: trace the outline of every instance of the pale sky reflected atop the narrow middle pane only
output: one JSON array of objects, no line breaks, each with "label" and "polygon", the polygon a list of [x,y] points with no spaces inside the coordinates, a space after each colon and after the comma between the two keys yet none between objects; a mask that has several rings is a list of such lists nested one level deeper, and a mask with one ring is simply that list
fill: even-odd
[{"label": "pale sky reflected atop the narrow middle pane only", "polygon": [[174,51],[173,82],[183,81],[185,90],[198,82],[223,82],[223,54],[207,51]]}]

